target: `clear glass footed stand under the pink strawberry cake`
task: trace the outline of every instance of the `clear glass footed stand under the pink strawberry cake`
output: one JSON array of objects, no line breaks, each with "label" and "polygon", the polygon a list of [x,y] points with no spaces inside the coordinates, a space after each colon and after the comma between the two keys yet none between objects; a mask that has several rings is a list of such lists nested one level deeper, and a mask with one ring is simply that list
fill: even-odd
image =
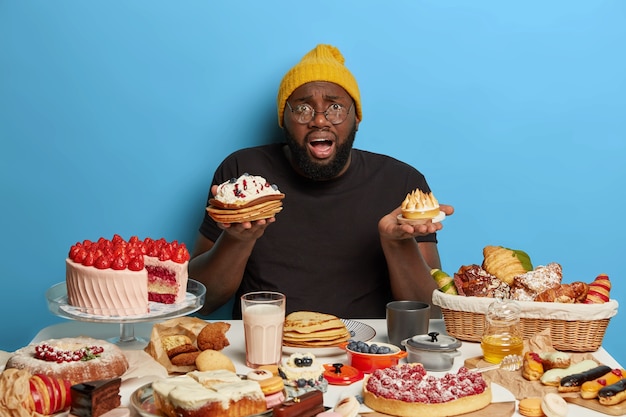
[{"label": "clear glass footed stand under the pink strawberry cake", "polygon": [[189,279],[187,281],[187,296],[185,300],[177,304],[162,304],[149,302],[149,312],[140,315],[129,316],[103,316],[91,314],[80,307],[71,306],[67,299],[67,286],[65,281],[53,285],[46,291],[48,309],[55,315],[70,320],[95,322],[95,323],[119,323],[120,335],[109,341],[126,349],[143,348],[147,340],[135,337],[135,323],[154,320],[166,320],[186,316],[198,311],[204,304],[206,288],[203,284]]}]

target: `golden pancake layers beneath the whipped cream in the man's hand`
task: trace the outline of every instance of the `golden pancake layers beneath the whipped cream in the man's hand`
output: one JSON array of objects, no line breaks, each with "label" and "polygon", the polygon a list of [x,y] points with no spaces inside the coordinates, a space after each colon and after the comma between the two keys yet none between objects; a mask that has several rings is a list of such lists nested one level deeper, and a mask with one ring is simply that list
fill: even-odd
[{"label": "golden pancake layers beneath the whipped cream in the man's hand", "polygon": [[267,195],[245,204],[227,204],[217,199],[209,200],[207,212],[219,223],[243,223],[267,219],[283,209],[284,194]]}]

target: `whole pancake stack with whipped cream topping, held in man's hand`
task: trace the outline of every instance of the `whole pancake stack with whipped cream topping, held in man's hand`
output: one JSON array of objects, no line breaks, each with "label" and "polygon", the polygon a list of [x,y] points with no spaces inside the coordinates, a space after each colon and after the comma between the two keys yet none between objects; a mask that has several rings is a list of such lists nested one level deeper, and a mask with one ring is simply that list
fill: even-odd
[{"label": "whole pancake stack with whipped cream topping, held in man's hand", "polygon": [[283,208],[285,195],[258,175],[243,174],[217,187],[207,212],[216,222],[242,223],[273,217]]}]

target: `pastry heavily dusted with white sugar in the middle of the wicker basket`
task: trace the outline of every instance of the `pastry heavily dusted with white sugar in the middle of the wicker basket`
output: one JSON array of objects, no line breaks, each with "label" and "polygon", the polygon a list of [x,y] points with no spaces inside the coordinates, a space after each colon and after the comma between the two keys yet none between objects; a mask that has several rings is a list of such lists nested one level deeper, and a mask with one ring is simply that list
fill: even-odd
[{"label": "pastry heavily dusted with white sugar in the middle of the wicker basket", "polygon": [[511,285],[511,298],[518,301],[534,301],[542,292],[561,285],[563,271],[556,262],[538,266],[533,271],[518,275]]}]

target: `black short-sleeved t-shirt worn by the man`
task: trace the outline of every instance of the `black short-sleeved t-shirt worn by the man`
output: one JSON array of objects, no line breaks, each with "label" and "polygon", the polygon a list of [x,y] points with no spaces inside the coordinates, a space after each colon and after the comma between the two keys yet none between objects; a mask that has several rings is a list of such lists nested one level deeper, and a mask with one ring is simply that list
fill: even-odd
[{"label": "black short-sleeved t-shirt worn by the man", "polygon": [[[412,190],[429,192],[424,176],[391,157],[354,149],[344,175],[311,181],[295,173],[282,147],[237,151],[213,178],[212,184],[221,184],[247,172],[265,177],[285,194],[276,222],[254,246],[237,297],[273,290],[287,296],[287,313],[384,318],[392,297],[378,221]],[[200,233],[215,242],[222,230],[205,214]],[[418,241],[436,242],[436,234]],[[238,302],[233,317],[241,318]]]}]

